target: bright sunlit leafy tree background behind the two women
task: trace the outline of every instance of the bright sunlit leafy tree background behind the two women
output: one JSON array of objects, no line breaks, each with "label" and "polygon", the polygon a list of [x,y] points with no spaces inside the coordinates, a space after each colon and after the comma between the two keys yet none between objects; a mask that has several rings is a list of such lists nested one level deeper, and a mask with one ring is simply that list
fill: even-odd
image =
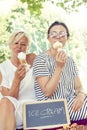
[{"label": "bright sunlit leafy tree background behind the two women", "polygon": [[78,14],[81,6],[86,8],[87,0],[17,0],[7,15],[0,15],[0,62],[10,57],[8,40],[14,30],[25,30],[31,40],[27,53],[39,54],[49,48],[47,30],[52,22],[58,20],[65,22],[70,30],[71,36],[65,47],[67,53],[79,66],[87,68],[87,60],[84,60],[87,59],[87,27],[74,24],[78,15],[73,21],[70,17]]}]

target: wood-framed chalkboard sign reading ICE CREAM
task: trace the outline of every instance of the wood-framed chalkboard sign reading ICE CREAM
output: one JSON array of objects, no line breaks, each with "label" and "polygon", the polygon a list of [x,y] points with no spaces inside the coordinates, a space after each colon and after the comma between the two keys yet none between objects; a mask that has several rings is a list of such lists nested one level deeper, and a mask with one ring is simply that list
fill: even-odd
[{"label": "wood-framed chalkboard sign reading ICE CREAM", "polygon": [[65,99],[25,103],[23,119],[24,129],[54,128],[70,124]]}]

